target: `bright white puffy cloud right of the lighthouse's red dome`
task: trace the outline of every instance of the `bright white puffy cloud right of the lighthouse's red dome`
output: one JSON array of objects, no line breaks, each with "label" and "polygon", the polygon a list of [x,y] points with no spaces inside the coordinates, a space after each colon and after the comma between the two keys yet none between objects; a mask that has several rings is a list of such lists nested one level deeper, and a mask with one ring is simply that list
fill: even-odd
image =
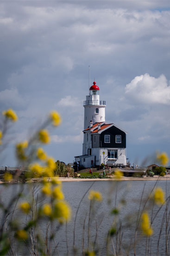
[{"label": "bright white puffy cloud right of the lighthouse's red dome", "polygon": [[136,76],[125,88],[126,97],[136,103],[170,105],[170,86],[164,74]]}]

